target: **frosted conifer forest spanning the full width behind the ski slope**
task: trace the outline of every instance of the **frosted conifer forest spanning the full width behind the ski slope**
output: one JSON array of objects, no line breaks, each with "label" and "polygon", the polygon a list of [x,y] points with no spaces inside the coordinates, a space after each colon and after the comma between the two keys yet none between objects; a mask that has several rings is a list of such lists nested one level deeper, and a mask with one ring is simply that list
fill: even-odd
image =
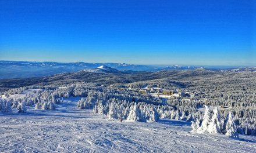
[{"label": "frosted conifer forest spanning the full width behind the ski slope", "polygon": [[84,97],[77,104],[79,108],[94,109],[94,112],[98,114],[111,114],[108,115],[111,116],[110,118],[123,117],[127,119],[136,104],[138,120],[143,122],[150,121],[150,116],[154,116],[152,114],[156,114],[155,112],[160,118],[180,119],[183,121],[195,121],[198,119],[198,122],[201,122],[204,114],[198,111],[198,108],[206,104],[205,101],[207,101],[208,105],[229,107],[228,109],[219,110],[221,121],[226,119],[229,112],[232,112],[237,132],[256,136],[256,83],[251,83],[255,82],[255,80],[251,79],[252,76],[247,75],[246,77],[251,80],[246,82],[243,79],[229,81],[227,78],[221,78],[220,80],[218,78],[219,75],[209,78],[198,77],[202,74],[196,75],[196,78],[190,78],[187,74],[184,74],[186,76],[184,78],[176,77],[172,79],[175,81],[171,79],[156,79],[154,81],[130,83],[124,86],[130,86],[131,88],[154,86],[164,89],[189,89],[197,92],[198,95],[190,97],[190,100],[184,100],[183,97],[173,97],[166,101],[150,94],[141,95],[127,88],[121,90],[120,88],[109,88],[91,83],[76,83],[75,81],[75,83],[60,83],[59,85],[15,88],[2,94],[10,95],[22,93],[27,89],[41,89],[36,91],[35,96],[27,96],[20,100],[8,100],[11,102],[11,108],[17,108],[22,101],[25,101],[26,105],[35,106],[37,109],[50,109],[50,104],[54,104],[55,107],[55,104],[62,102],[62,97]]}]

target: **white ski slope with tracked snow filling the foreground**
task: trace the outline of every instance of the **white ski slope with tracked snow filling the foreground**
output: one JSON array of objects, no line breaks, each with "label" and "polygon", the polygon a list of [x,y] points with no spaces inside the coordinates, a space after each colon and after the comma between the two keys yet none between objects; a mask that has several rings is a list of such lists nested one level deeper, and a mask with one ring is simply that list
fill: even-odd
[{"label": "white ski slope with tracked snow filling the foreground", "polygon": [[190,123],[110,121],[66,99],[54,111],[0,114],[0,152],[256,152],[256,137],[191,133]]}]

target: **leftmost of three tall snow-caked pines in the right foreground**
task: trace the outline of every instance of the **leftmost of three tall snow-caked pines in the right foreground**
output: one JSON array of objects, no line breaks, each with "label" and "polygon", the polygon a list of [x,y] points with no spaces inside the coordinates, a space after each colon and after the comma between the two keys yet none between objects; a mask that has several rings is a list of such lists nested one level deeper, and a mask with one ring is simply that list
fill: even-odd
[{"label": "leftmost of three tall snow-caked pines in the right foreground", "polygon": [[204,117],[200,128],[197,130],[198,133],[208,133],[208,126],[211,123],[211,112],[207,105],[205,105]]}]

